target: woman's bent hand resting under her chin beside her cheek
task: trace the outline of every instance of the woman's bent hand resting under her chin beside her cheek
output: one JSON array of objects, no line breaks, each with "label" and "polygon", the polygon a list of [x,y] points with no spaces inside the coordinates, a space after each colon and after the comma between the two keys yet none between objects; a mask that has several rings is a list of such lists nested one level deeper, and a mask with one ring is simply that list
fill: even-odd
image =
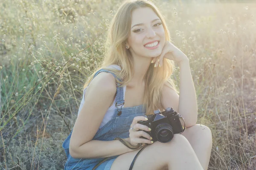
[{"label": "woman's bent hand resting under her chin beside her cheek", "polygon": [[163,46],[162,53],[157,57],[152,57],[152,63],[155,62],[154,67],[161,67],[163,65],[163,58],[167,58],[170,60],[174,60],[177,64],[180,64],[183,61],[188,61],[188,57],[179,48],[173,45],[168,40],[165,42]]}]

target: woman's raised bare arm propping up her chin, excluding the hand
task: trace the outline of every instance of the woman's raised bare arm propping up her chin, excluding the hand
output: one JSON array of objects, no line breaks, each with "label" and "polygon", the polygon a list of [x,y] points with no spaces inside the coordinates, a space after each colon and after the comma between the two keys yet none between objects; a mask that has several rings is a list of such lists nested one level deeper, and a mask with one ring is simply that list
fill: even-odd
[{"label": "woman's raised bare arm propping up her chin, excluding the hand", "polygon": [[164,85],[162,103],[164,108],[172,107],[174,111],[180,113],[186,122],[186,127],[191,127],[197,122],[198,108],[195,87],[190,72],[189,60],[181,62],[179,66],[180,96],[174,90],[172,90],[172,88]]}]

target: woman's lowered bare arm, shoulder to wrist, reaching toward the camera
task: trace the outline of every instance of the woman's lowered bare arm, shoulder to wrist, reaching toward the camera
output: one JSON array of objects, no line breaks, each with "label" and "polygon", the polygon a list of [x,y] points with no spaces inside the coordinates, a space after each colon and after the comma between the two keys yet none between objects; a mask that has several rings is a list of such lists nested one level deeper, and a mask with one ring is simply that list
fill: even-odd
[{"label": "woman's lowered bare arm, shoulder to wrist, reaching toward the camera", "polygon": [[90,82],[84,105],[76,119],[70,138],[70,155],[73,158],[104,158],[132,151],[117,140],[92,140],[115,94],[116,80],[110,73],[99,73]]}]

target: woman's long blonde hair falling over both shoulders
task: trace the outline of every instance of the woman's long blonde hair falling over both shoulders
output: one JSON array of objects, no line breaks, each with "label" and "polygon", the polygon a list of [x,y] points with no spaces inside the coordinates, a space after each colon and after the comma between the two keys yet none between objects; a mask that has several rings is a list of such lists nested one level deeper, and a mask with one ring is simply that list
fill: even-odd
[{"label": "woman's long blonde hair falling over both shoulders", "polygon": [[[111,25],[106,37],[105,57],[98,68],[96,68],[96,71],[87,79],[84,88],[87,87],[89,82],[93,79],[94,74],[102,68],[116,74],[116,76],[122,80],[120,82],[116,79],[116,82],[118,82],[120,86],[125,86],[131,81],[133,77],[134,61],[130,51],[125,47],[125,41],[128,39],[131,29],[131,12],[136,8],[143,7],[149,7],[157,14],[162,21],[166,40],[171,40],[166,22],[153,3],[148,0],[125,0],[111,20]],[[109,65],[119,65],[121,70],[106,68]],[[177,92],[174,81],[171,79],[173,71],[174,62],[166,58],[163,59],[163,66],[161,65],[160,68],[154,69],[154,63],[149,66],[145,75],[146,87],[143,102],[146,106],[146,115],[153,113],[153,111],[157,109],[160,109],[160,111],[166,109],[163,108],[161,104],[162,88],[166,82],[170,88]]]}]

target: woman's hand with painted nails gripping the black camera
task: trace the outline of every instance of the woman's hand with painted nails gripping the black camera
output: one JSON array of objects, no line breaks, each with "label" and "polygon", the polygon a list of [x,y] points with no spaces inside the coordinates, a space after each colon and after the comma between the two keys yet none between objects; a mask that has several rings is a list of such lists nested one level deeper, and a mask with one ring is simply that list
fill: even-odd
[{"label": "woman's hand with painted nails gripping the black camera", "polygon": [[[131,128],[129,130],[130,134],[130,144],[136,146],[140,143],[147,143],[151,144],[151,136],[150,136],[150,129],[148,126],[139,124],[139,121],[147,121],[148,118],[144,116],[136,116],[133,119],[133,122],[131,123]],[[148,132],[148,133],[146,133]],[[143,138],[141,138],[143,136]]]}]

